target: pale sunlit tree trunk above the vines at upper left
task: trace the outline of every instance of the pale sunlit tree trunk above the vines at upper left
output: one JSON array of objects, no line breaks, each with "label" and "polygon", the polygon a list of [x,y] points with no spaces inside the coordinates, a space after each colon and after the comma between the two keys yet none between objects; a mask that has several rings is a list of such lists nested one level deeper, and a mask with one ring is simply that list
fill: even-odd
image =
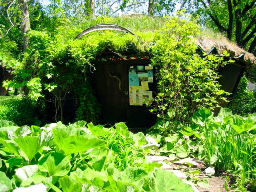
[{"label": "pale sunlit tree trunk above the vines at upper left", "polygon": [[30,29],[28,4],[27,4],[27,0],[19,0],[19,3],[20,3],[20,10],[22,11],[22,23],[21,23],[20,29],[21,29],[22,40],[23,40],[23,52],[26,52],[26,48],[28,47],[28,37],[26,36],[26,34]]}]

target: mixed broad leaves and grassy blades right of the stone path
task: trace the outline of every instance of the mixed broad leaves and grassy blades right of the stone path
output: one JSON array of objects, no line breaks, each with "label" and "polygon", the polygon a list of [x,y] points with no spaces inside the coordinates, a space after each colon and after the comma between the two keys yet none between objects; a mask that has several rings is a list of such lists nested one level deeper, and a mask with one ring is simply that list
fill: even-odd
[{"label": "mixed broad leaves and grassy blades right of the stone path", "polygon": [[[164,127],[165,124],[165,127]],[[164,133],[171,123],[159,120],[152,135]],[[256,181],[256,114],[247,117],[233,115],[222,108],[218,116],[208,109],[200,109],[190,118],[189,126],[179,124],[174,132],[160,138],[159,151],[173,160],[188,156],[204,160],[215,170],[230,172],[238,190],[253,189]],[[194,178],[197,180],[197,178]]]}]

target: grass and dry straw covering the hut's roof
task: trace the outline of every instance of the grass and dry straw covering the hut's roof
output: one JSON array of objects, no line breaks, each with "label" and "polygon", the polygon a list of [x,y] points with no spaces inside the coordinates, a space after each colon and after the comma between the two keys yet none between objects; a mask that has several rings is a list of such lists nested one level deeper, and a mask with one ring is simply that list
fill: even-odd
[{"label": "grass and dry straw covering the hut's roof", "polygon": [[[152,42],[154,42],[154,33],[164,27],[167,20],[168,18],[136,14],[110,18],[98,17],[96,19],[84,20],[73,26],[61,27],[58,29],[58,35],[63,38],[63,42],[66,43],[70,41],[70,46],[74,47],[74,43],[72,43],[73,38],[84,29],[96,24],[117,24],[134,32],[140,38],[141,43],[138,42],[136,37],[132,34],[114,31],[92,32],[76,41],[79,41],[78,44],[80,44],[81,47],[89,46],[94,49],[94,54],[98,54],[106,47],[113,51],[124,51],[126,50],[128,42],[133,42],[138,52],[143,53],[148,51],[148,48],[152,45]],[[222,55],[224,51],[227,51],[230,53],[230,56],[234,58],[244,53],[244,60],[242,61],[244,64],[256,64],[256,58],[253,54],[239,48],[235,43],[227,40],[224,35],[208,29],[202,29],[201,31],[201,34],[195,37],[195,39],[196,44],[198,44],[204,52],[209,52],[215,46],[220,55]]]}]

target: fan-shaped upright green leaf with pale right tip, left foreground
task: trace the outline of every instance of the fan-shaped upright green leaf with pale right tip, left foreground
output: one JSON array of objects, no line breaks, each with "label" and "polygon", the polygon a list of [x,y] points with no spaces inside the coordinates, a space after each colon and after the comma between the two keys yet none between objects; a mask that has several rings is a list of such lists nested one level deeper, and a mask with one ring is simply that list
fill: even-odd
[{"label": "fan-shaped upright green leaf with pale right tip, left foreground", "polygon": [[22,150],[24,158],[31,161],[35,154],[52,139],[50,132],[41,132],[39,136],[15,138],[17,146]]}]

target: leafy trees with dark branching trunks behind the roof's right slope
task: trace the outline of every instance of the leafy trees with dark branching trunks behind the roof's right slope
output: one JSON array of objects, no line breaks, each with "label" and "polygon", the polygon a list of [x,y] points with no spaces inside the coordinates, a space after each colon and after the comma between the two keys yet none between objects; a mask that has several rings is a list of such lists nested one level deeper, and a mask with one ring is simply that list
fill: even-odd
[{"label": "leafy trees with dark branching trunks behind the roof's right slope", "polygon": [[256,0],[184,0],[200,24],[225,33],[238,46],[256,52]]}]

